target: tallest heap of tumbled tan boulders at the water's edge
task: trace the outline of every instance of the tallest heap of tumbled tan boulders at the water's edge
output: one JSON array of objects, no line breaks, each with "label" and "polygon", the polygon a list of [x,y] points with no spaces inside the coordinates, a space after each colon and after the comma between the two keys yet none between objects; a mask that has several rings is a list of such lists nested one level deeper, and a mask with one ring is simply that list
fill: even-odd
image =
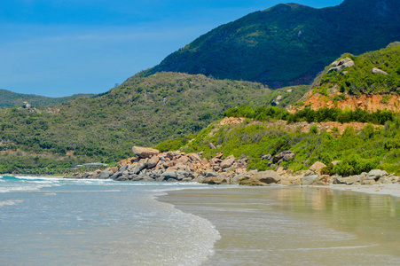
[{"label": "tallest heap of tumbled tan boulders at the water's edge", "polygon": [[232,178],[247,172],[247,159],[236,160],[234,156],[222,159],[224,153],[218,153],[211,160],[201,158],[202,153],[181,153],[159,151],[133,147],[137,157],[119,161],[118,167],[104,171],[84,173],[76,178],[111,178],[119,181],[162,181],[189,182],[205,184],[231,184]]}]

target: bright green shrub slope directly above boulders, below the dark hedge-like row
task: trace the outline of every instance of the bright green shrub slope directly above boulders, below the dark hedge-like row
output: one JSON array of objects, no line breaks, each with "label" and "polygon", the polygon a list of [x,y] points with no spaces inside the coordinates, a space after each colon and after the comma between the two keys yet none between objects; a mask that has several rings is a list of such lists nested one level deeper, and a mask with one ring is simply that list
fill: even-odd
[{"label": "bright green shrub slope directly above boulders, below the dark hedge-like row", "polygon": [[[270,160],[263,160],[263,155],[272,156],[285,151],[294,151],[294,159],[283,162],[280,166],[294,172],[309,168],[314,162],[322,161],[326,165],[333,160],[340,160],[330,174],[343,176],[360,174],[373,168],[381,168],[389,173],[400,173],[400,117],[387,121],[384,127],[374,129],[368,124],[361,131],[348,127],[342,135],[320,131],[317,125],[310,127],[310,132],[302,133],[301,125],[292,124],[288,130],[276,123],[247,120],[238,125],[218,126],[213,123],[191,138],[176,140],[176,143],[161,143],[158,147],[169,145],[185,153],[204,151],[208,159],[217,153],[224,156],[233,154],[236,158],[249,158],[249,169],[270,169]],[[189,141],[190,140],[190,141]],[[218,148],[209,147],[212,143]],[[173,147],[172,145],[180,145]],[[275,169],[273,167],[272,169]]]}]

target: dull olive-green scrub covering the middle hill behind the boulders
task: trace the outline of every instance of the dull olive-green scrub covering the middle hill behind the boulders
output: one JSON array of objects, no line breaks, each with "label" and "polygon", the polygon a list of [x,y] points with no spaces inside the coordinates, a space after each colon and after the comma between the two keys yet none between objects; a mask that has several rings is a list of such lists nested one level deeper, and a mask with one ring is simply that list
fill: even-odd
[{"label": "dull olive-green scrub covering the middle hill behind the boulders", "polygon": [[[296,88],[290,90],[293,95],[282,93],[282,102],[301,97]],[[261,83],[159,73],[129,79],[96,98],[2,109],[0,150],[8,152],[2,152],[0,172],[24,172],[24,164],[37,169],[121,160],[132,155],[132,145],[156,145],[197,133],[231,107],[269,105],[270,94]]]}]

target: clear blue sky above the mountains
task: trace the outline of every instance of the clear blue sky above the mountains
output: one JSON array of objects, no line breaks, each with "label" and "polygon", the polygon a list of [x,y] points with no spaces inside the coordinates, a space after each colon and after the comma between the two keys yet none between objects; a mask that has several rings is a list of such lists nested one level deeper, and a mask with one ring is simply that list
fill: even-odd
[{"label": "clear blue sky above the mountains", "polygon": [[214,27],[287,2],[321,8],[342,0],[0,1],[0,89],[104,92]]}]

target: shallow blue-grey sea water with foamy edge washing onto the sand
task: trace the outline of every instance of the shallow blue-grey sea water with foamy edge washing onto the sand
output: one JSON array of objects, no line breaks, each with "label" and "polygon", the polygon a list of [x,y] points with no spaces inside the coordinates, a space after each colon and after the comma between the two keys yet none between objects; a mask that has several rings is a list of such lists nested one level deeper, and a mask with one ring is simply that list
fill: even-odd
[{"label": "shallow blue-grey sea water with foamy edge washing onto the sand", "polygon": [[199,265],[220,239],[154,199],[207,185],[0,177],[1,265]]}]

